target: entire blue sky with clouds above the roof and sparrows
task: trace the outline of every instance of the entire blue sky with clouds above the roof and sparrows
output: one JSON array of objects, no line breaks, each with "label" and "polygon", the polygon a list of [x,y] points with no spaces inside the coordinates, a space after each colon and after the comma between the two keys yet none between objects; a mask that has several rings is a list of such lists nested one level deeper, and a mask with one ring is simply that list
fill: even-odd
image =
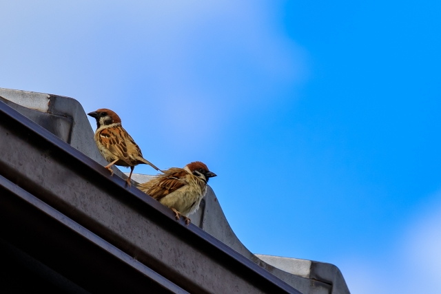
[{"label": "entire blue sky with clouds above the roof and sparrows", "polygon": [[0,87],[114,109],[158,167],[202,160],[252,252],[336,264],[351,293],[441,292],[437,1],[0,11]]}]

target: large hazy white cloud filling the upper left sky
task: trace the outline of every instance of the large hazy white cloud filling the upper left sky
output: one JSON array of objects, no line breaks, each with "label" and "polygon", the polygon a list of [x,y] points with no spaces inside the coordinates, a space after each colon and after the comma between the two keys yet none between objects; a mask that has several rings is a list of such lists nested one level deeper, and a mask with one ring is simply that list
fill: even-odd
[{"label": "large hazy white cloud filling the upper left sky", "polygon": [[[0,10],[0,87],[146,117],[165,145],[200,132],[214,140],[231,116],[306,76],[305,52],[270,1],[17,0]],[[183,121],[198,127],[175,127]]]}]

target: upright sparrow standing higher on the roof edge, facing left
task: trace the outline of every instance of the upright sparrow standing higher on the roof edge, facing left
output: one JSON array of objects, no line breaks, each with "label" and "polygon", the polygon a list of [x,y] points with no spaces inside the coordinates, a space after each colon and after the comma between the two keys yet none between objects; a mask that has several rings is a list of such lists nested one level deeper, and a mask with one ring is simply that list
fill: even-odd
[{"label": "upright sparrow standing higher on the roof edge, facing left", "polygon": [[130,187],[130,178],[135,165],[146,164],[161,171],[143,158],[141,149],[121,125],[121,118],[118,114],[110,109],[101,108],[88,113],[88,116],[92,116],[96,120],[95,143],[101,155],[107,162],[110,162],[105,168],[110,171],[111,176],[113,176],[113,171],[110,168],[112,165],[130,167],[130,176],[126,180]]}]

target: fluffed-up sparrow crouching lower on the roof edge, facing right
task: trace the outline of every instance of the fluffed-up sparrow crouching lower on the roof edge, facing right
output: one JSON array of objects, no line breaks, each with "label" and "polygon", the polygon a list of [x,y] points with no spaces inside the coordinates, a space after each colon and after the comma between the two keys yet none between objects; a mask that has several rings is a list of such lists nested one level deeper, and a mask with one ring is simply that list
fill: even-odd
[{"label": "fluffed-up sparrow crouching lower on the roof edge, facing right", "polygon": [[138,185],[138,189],[171,208],[176,220],[182,215],[188,225],[191,221],[188,216],[198,210],[207,193],[207,182],[216,174],[200,161],[191,162],[183,169],[172,167],[163,173]]}]

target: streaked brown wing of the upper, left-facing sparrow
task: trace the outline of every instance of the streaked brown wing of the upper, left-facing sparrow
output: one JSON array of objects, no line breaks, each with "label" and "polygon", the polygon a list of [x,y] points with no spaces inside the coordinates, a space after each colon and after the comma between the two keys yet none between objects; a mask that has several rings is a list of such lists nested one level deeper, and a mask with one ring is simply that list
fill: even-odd
[{"label": "streaked brown wing of the upper, left-facing sparrow", "polygon": [[121,158],[121,160],[128,160],[129,154],[127,152],[127,144],[124,140],[124,131],[121,127],[109,127],[99,132],[99,141],[112,154]]}]

